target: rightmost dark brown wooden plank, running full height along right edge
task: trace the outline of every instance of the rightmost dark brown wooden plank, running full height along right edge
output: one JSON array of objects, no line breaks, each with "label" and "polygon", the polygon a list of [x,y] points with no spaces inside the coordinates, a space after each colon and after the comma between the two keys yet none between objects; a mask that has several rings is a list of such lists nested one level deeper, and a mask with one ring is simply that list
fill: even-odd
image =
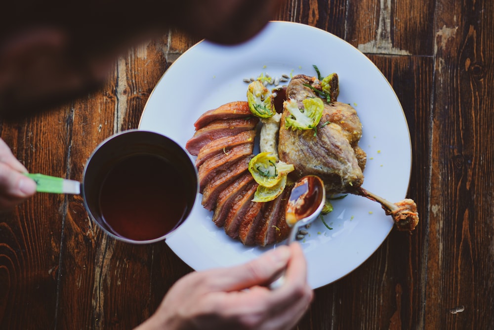
[{"label": "rightmost dark brown wooden plank, running full height along right edge", "polygon": [[438,0],[427,329],[494,324],[492,1]]}]

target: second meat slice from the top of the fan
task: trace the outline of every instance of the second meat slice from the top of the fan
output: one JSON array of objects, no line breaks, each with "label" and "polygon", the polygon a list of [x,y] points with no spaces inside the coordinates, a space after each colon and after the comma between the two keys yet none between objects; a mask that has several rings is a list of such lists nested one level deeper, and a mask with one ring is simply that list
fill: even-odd
[{"label": "second meat slice from the top of the fan", "polygon": [[197,156],[201,148],[207,143],[253,130],[258,122],[257,117],[215,120],[196,131],[194,136],[185,144],[185,148],[191,155]]}]

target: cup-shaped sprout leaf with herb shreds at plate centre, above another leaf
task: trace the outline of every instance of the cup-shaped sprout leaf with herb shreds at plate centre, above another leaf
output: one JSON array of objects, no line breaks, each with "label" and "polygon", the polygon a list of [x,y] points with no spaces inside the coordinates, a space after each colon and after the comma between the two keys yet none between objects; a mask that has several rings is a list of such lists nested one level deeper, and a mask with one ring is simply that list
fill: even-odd
[{"label": "cup-shaped sprout leaf with herb shreds at plate centre, above another leaf", "polygon": [[248,163],[248,170],[260,186],[271,188],[276,186],[283,176],[294,170],[293,165],[277,162],[278,159],[270,152],[261,152]]}]

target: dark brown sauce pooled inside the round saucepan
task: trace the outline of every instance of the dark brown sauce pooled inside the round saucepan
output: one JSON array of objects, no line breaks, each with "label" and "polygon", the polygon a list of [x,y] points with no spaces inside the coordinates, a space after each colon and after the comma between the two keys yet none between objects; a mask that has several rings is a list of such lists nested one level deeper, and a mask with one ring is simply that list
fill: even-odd
[{"label": "dark brown sauce pooled inside the round saucepan", "polygon": [[106,226],[132,240],[162,237],[176,228],[188,210],[180,172],[164,158],[136,154],[106,175],[99,206]]}]

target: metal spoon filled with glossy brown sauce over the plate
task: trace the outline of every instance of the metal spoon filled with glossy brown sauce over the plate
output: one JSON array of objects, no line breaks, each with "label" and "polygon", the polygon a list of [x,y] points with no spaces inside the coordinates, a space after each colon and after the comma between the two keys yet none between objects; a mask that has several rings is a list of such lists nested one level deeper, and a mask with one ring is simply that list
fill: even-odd
[{"label": "metal spoon filled with glossy brown sauce over the plate", "polygon": [[[324,183],[318,176],[308,175],[295,183],[288,197],[286,222],[291,227],[287,245],[290,245],[298,233],[300,227],[313,222],[321,213],[326,202]],[[276,289],[285,282],[285,271],[280,277],[270,284],[271,289]]]}]

